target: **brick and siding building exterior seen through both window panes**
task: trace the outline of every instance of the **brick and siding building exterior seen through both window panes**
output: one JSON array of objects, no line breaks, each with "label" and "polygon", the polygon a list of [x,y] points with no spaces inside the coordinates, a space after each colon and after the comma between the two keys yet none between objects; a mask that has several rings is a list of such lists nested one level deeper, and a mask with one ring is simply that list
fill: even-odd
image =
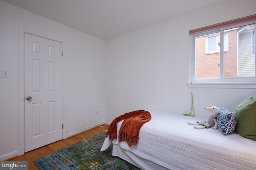
[{"label": "brick and siding building exterior seen through both window panes", "polygon": [[[252,24],[223,32],[224,77],[255,76],[254,30]],[[220,78],[219,45],[220,33],[195,38],[195,78]]]}]

